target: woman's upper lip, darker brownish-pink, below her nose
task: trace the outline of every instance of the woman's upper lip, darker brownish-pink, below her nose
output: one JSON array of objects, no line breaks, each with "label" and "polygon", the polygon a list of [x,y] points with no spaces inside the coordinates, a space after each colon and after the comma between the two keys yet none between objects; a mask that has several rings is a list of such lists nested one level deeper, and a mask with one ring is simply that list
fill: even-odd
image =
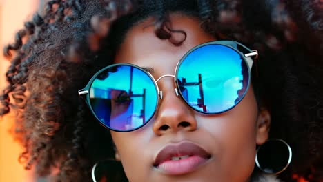
[{"label": "woman's upper lip, darker brownish-pink, below her nose", "polygon": [[154,166],[158,166],[164,161],[170,160],[173,156],[201,156],[209,159],[211,154],[206,152],[204,148],[190,141],[182,141],[180,143],[169,143],[157,153],[154,160]]}]

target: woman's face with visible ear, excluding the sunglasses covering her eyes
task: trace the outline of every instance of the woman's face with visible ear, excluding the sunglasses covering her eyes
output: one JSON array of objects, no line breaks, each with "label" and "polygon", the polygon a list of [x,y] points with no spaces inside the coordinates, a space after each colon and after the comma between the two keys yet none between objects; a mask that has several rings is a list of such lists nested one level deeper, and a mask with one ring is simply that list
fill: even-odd
[{"label": "woman's face with visible ear, excluding the sunglasses covering her eyes", "polygon": [[[156,37],[153,19],[147,19],[130,29],[115,63],[153,68],[152,75],[158,79],[174,74],[177,62],[188,50],[215,41],[193,18],[172,14],[170,21],[174,30],[186,32],[182,45]],[[183,34],[173,36],[181,38]],[[257,111],[252,88],[235,108],[206,115],[177,97],[173,77],[164,77],[157,84],[164,96],[153,119],[139,130],[111,131],[129,181],[248,181],[255,164],[256,144],[268,137],[266,117]],[[192,154],[189,157],[188,152]],[[182,153],[184,159],[167,157],[172,153]],[[164,161],[160,156],[168,159]]]}]

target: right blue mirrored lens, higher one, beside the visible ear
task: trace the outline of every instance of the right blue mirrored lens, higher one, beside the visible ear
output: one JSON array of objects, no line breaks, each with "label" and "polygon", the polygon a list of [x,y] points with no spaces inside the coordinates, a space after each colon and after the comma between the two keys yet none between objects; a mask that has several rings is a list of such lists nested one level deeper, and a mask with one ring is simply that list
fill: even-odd
[{"label": "right blue mirrored lens, higher one, beside the visible ear", "polygon": [[204,45],[190,52],[177,70],[182,97],[195,110],[216,114],[233,108],[248,89],[244,59],[224,45]]}]

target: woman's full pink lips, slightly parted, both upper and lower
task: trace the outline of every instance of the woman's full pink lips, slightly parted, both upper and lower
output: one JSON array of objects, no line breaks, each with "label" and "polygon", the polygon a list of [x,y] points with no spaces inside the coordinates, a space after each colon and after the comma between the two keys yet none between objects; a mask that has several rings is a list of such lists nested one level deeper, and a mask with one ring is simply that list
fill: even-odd
[{"label": "woman's full pink lips, slightly parted, both upper and lower", "polygon": [[184,141],[171,143],[162,148],[155,157],[153,165],[166,174],[179,175],[193,172],[210,158],[211,154],[204,148]]}]

